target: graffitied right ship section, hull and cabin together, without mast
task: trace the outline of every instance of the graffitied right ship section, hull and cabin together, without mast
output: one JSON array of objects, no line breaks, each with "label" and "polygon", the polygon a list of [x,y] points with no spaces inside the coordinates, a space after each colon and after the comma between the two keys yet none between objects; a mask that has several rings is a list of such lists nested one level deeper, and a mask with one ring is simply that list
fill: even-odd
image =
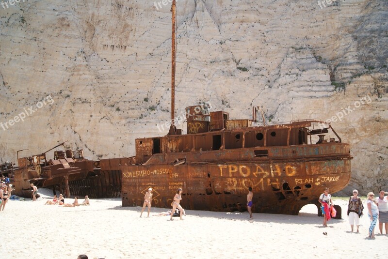
[{"label": "graffitied right ship section, hull and cabin together, without mast", "polygon": [[349,183],[349,144],[340,138],[311,142],[311,136],[328,133],[330,125],[311,129],[324,122],[304,121],[242,127],[249,126],[247,121],[225,121],[229,128],[221,131],[136,139],[135,161],[140,163],[120,166],[122,206],[142,206],[151,187],[152,206],[170,208],[182,188],[185,209],[246,211],[252,187],[253,212],[297,215],[307,204],[320,206],[325,187],[335,193]]}]

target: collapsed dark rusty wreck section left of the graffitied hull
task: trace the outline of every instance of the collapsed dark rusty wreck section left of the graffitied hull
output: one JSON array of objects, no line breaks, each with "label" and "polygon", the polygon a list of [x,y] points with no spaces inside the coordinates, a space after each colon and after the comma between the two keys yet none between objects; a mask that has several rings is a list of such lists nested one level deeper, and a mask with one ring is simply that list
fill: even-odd
[{"label": "collapsed dark rusty wreck section left of the graffitied hull", "polygon": [[[46,152],[17,160],[19,167],[11,179],[15,186],[13,194],[17,196],[31,198],[30,184],[33,183],[38,188],[52,188],[53,195],[62,193],[66,198],[85,195],[89,198],[121,197],[122,176],[118,165],[120,161],[124,165],[125,158],[93,161],[85,159],[82,150],[66,150],[55,151],[54,159],[49,161]],[[106,167],[109,170],[104,170]]]}]

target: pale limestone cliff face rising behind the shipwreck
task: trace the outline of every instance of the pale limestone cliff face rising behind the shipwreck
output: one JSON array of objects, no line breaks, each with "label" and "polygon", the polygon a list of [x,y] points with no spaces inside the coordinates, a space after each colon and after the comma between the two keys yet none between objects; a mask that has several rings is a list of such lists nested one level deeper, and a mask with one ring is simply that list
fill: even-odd
[{"label": "pale limestone cliff face rising behind the shipwreck", "polygon": [[[136,137],[165,135],[171,3],[164,3],[0,5],[3,161],[65,140],[90,159],[130,156]],[[330,120],[354,156],[342,194],[388,187],[386,0],[337,0],[322,9],[307,0],[177,6],[177,114],[210,102],[235,119],[260,106],[267,122]]]}]

